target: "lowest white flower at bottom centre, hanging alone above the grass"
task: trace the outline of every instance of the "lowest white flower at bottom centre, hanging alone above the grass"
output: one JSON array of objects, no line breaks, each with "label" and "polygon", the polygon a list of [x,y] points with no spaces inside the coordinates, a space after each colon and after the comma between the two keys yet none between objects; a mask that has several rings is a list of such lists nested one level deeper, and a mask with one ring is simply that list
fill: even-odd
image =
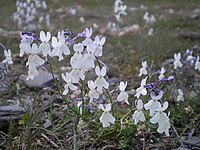
[{"label": "lowest white flower at bottom centre, hanging alone above the grass", "polygon": [[99,118],[100,122],[103,124],[103,127],[106,128],[109,127],[111,123],[114,124],[115,118],[109,112],[111,110],[111,104],[107,104],[106,107],[100,104],[99,108],[103,110],[103,114]]}]

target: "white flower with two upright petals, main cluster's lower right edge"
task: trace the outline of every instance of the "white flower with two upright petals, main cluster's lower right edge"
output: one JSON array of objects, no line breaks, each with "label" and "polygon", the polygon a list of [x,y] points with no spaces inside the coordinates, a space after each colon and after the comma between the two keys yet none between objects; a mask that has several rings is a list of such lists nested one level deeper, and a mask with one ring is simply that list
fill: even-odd
[{"label": "white flower with two upright petals, main cluster's lower right edge", "polygon": [[108,89],[109,83],[104,79],[104,76],[106,75],[106,67],[103,66],[100,70],[99,66],[96,66],[95,73],[98,76],[95,80],[95,84],[97,86],[97,92],[99,94],[103,93],[103,88]]}]

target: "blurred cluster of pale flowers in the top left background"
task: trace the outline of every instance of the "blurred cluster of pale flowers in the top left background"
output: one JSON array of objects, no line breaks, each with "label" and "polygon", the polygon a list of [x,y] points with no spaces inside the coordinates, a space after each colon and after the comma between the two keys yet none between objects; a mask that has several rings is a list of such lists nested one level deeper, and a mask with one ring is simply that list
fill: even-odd
[{"label": "blurred cluster of pale flowers in the top left background", "polygon": [[25,0],[16,2],[17,11],[13,14],[13,20],[20,29],[33,31],[40,29],[43,24],[50,26],[50,17],[42,13],[47,9],[43,0]]}]

